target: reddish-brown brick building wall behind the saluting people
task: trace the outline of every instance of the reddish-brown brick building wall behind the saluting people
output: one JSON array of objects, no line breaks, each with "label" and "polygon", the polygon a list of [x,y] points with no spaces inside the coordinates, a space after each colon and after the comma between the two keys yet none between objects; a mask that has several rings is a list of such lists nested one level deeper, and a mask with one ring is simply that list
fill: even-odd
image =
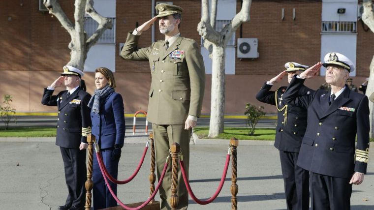
[{"label": "reddish-brown brick building wall behind the saluting people", "polygon": [[[200,43],[196,30],[201,17],[200,0],[170,0],[184,8],[181,33]],[[22,5],[21,5],[22,4]],[[60,0],[72,20],[74,0]],[[141,5],[141,6],[139,6]],[[11,94],[17,111],[55,111],[40,104],[43,88],[50,85],[69,61],[69,34],[60,22],[48,12],[38,10],[39,0],[0,1],[0,95]],[[237,11],[241,1],[237,0]],[[281,19],[284,8],[284,19]],[[293,9],[296,18],[293,19]],[[287,61],[312,65],[321,57],[321,0],[252,0],[250,21],[236,31],[236,38],[258,38],[257,59],[236,59],[235,74],[226,76],[225,114],[243,114],[246,103],[263,105],[254,95],[263,82],[283,70]],[[151,75],[147,62],[123,60],[119,56],[120,43],[128,31],[151,18],[151,0],[116,1],[115,76],[117,91],[125,99],[125,113],[147,110]],[[374,33],[357,21],[356,77],[359,86],[369,76],[373,58]],[[156,26],[156,40],[163,39]],[[139,47],[151,44],[151,30],[141,35]],[[344,43],[342,43],[344,44]],[[88,92],[94,92],[94,74],[84,76]],[[211,75],[206,77],[203,113],[210,112]],[[324,82],[320,76],[307,81],[311,88]],[[282,81],[280,85],[286,85]],[[59,89],[62,90],[62,89]],[[268,113],[275,107],[265,105]]]}]

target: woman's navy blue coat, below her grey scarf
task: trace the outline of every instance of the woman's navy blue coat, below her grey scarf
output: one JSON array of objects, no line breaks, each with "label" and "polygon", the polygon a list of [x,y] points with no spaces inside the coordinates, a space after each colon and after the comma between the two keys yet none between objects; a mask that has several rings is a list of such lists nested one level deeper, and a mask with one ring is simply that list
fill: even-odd
[{"label": "woman's navy blue coat, below her grey scarf", "polygon": [[100,102],[100,112],[91,112],[92,134],[100,149],[111,149],[114,145],[124,145],[125,115],[124,100],[117,92],[110,93]]}]

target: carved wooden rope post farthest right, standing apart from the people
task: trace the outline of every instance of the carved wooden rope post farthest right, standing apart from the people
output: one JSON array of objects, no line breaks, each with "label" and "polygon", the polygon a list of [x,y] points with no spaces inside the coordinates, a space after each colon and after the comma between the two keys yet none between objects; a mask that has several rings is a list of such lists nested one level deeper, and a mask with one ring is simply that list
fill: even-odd
[{"label": "carved wooden rope post farthest right, standing apart from the people", "polygon": [[230,186],[231,190],[231,210],[237,210],[238,209],[238,200],[236,195],[238,194],[239,187],[236,184],[236,181],[238,180],[238,168],[237,168],[237,154],[238,150],[237,147],[239,145],[239,140],[237,138],[231,138],[230,139],[230,147],[231,150],[231,181],[232,184]]}]

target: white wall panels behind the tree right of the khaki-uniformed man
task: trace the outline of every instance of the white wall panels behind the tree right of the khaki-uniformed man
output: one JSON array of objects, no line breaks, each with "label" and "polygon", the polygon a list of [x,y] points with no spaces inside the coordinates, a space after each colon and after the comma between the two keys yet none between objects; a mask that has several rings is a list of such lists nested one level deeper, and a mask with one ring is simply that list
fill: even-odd
[{"label": "white wall panels behind the tree right of the khaki-uniformed man", "polygon": [[[212,5],[209,0],[209,5]],[[218,0],[217,4],[217,20],[232,20],[236,15],[236,0]],[[235,74],[235,46],[227,46],[225,59],[225,73]],[[203,55],[205,72],[212,74],[212,60],[209,58],[208,50],[201,47]]]}]

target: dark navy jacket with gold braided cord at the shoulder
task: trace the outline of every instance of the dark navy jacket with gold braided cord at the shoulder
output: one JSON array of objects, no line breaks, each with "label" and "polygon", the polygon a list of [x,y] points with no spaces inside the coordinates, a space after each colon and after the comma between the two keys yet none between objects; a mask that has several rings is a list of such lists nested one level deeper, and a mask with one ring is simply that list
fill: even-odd
[{"label": "dark navy jacket with gold braided cord at the shoulder", "polygon": [[[307,109],[286,105],[282,99],[287,87],[270,91],[271,85],[266,83],[257,93],[256,99],[277,106],[278,122],[274,146],[281,151],[299,152],[301,141],[307,129]],[[312,94],[314,90],[302,86],[298,94]]]}]

